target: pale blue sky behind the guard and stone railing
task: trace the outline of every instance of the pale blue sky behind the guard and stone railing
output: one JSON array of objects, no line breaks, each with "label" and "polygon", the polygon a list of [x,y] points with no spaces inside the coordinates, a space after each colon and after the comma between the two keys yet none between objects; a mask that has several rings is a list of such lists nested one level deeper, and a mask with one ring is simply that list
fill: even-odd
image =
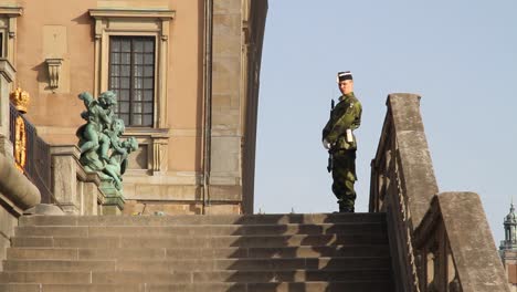
[{"label": "pale blue sky behind the guard and stone railing", "polygon": [[387,95],[416,93],[440,190],[479,194],[498,246],[517,202],[516,14],[515,0],[270,0],[255,211],[336,210],[320,135],[336,73],[350,70],[363,105],[356,210],[368,210]]}]

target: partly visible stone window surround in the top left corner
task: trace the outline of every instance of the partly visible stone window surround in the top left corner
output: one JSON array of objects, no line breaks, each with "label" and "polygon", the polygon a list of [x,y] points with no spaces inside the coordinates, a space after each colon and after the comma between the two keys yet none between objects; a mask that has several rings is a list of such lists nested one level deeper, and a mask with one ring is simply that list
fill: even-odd
[{"label": "partly visible stone window surround in the top left corner", "polygon": [[23,9],[21,7],[0,7],[0,32],[3,38],[1,45],[3,46],[3,55],[11,62],[15,64],[15,36],[17,36],[17,18],[23,14]]}]

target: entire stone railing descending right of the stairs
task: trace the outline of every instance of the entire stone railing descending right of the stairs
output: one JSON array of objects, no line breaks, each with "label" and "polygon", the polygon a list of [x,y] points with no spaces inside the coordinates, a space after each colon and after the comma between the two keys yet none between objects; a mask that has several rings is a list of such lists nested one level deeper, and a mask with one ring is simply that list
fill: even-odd
[{"label": "entire stone railing descending right of the stairs", "polygon": [[509,291],[476,194],[439,195],[420,96],[390,94],[370,211],[387,212],[397,291]]}]

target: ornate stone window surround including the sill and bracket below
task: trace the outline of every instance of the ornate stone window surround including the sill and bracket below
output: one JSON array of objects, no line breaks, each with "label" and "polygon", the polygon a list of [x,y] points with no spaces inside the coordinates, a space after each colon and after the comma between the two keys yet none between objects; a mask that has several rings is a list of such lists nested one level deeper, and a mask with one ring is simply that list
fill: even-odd
[{"label": "ornate stone window surround including the sill and bracket below", "polygon": [[109,36],[155,36],[155,117],[151,128],[126,129],[139,144],[147,145],[147,169],[129,169],[128,176],[162,175],[167,171],[167,71],[169,53],[169,27],[173,10],[144,9],[89,9],[95,19],[95,73],[94,92],[108,90]]}]

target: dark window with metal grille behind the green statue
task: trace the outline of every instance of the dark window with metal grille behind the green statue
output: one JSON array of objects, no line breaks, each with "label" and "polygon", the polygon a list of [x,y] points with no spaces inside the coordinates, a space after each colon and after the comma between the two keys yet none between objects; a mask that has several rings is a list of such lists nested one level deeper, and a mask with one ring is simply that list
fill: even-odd
[{"label": "dark window with metal grille behind the green statue", "polygon": [[155,38],[109,38],[109,90],[126,126],[151,127],[155,108]]}]

